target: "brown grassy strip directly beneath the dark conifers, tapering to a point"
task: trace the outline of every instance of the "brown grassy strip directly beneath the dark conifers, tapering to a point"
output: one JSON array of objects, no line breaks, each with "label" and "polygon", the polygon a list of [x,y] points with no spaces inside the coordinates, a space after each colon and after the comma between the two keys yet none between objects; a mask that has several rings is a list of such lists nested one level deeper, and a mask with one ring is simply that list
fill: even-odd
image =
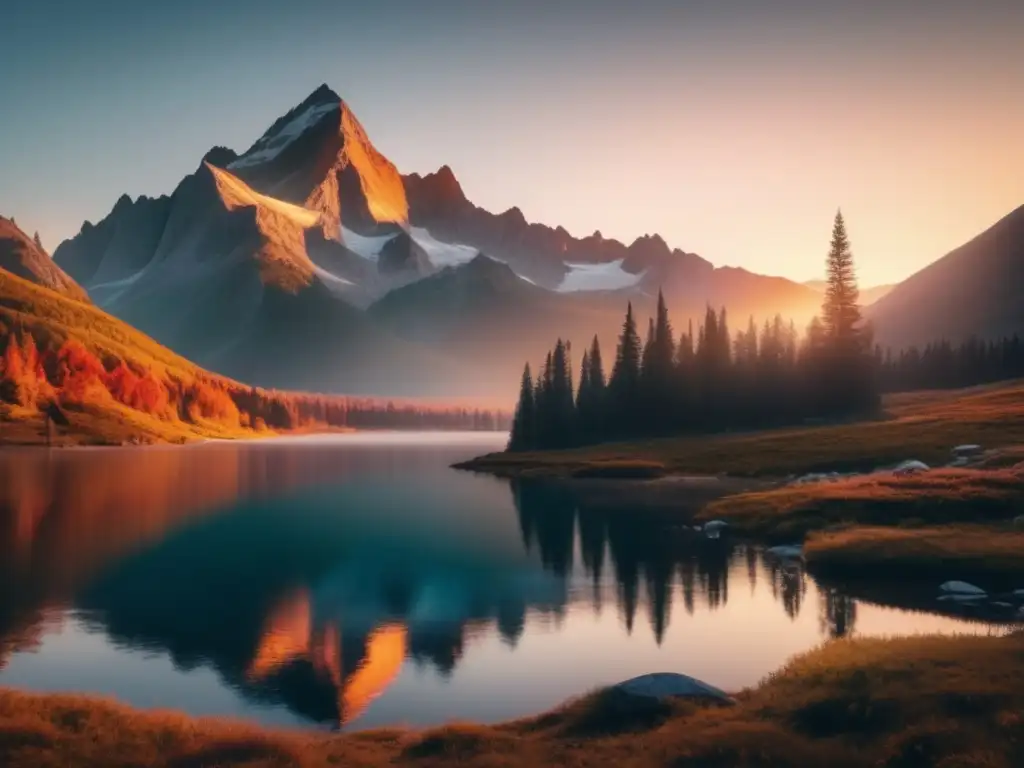
[{"label": "brown grassy strip directly beneath the dark conifers, tapering to a point", "polygon": [[1024,384],[892,395],[876,421],[490,454],[458,465],[503,476],[566,477],[591,468],[651,464],[669,473],[776,476],[866,471],[906,459],[945,464],[962,443],[1024,443]]}]

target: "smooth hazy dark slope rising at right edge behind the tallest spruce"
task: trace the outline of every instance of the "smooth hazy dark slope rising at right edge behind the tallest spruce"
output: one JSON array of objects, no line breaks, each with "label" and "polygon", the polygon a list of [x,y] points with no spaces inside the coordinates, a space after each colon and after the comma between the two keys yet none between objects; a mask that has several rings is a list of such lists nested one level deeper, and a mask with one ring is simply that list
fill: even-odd
[{"label": "smooth hazy dark slope rising at right edge behind the tallest spruce", "polygon": [[1024,206],[869,307],[880,344],[1024,334]]}]

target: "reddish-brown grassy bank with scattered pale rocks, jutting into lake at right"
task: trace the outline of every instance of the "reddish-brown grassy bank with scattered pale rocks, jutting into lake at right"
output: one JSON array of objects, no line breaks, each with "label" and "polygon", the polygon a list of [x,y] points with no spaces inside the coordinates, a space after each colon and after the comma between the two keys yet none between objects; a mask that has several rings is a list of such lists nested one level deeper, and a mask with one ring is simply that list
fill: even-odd
[{"label": "reddish-brown grassy bank with scattered pale rocks, jutting into lake at right", "polygon": [[1022,500],[1024,468],[944,469],[738,494],[698,517],[804,542],[808,567],[828,579],[957,579],[998,591],[1024,587]]}]

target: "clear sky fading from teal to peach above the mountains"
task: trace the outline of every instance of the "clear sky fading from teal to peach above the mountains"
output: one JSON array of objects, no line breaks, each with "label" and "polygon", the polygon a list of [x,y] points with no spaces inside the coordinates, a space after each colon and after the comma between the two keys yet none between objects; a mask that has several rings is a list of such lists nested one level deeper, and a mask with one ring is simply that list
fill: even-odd
[{"label": "clear sky fading from teal to peach above the mountains", "polygon": [[496,213],[861,284],[1024,204],[1020,0],[11,0],[0,214],[53,250],[321,83]]}]

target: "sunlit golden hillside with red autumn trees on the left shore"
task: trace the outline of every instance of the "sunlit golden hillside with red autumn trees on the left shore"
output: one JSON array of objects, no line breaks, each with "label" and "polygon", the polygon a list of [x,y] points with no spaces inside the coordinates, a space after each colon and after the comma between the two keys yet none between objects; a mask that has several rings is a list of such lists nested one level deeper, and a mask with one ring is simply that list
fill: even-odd
[{"label": "sunlit golden hillside with red autumn trees on the left shore", "polygon": [[[496,414],[255,389],[95,306],[0,269],[0,442],[183,442],[303,427],[499,427]],[[504,418],[504,417],[502,417]]]}]

